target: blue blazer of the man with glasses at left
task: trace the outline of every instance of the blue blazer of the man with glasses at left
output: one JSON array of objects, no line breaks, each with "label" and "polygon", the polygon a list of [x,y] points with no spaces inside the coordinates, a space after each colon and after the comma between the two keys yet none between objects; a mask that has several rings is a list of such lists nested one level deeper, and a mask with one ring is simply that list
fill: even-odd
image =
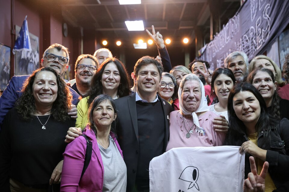
[{"label": "blue blazer of the man with glasses at left", "polygon": [[[30,75],[13,76],[10,79],[9,84],[0,97],[0,125],[3,122],[5,115],[15,106],[16,101],[22,95],[21,89],[23,83],[29,76]],[[69,88],[69,90],[73,96],[72,104],[77,105],[79,95],[72,88]]]}]

